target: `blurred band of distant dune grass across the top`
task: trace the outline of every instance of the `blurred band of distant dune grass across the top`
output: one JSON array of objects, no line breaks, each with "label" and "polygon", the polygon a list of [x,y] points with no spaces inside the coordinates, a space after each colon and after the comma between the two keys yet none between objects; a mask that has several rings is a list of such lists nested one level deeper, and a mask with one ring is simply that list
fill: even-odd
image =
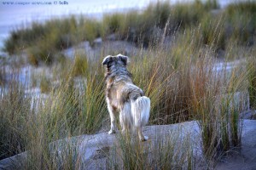
[{"label": "blurred band of distant dune grass across the top", "polygon": [[[192,3],[151,3],[143,12],[130,11],[125,14],[105,14],[102,20],[71,16],[45,23],[33,22],[10,33],[4,43],[9,54],[26,51],[32,65],[51,64],[58,60],[59,52],[79,42],[89,41],[94,45],[96,37],[106,40],[114,34],[121,40],[136,42],[147,48],[160,40],[163,34],[172,37],[175,32],[197,29],[201,43],[226,49],[229,42],[251,46],[254,42],[255,6],[253,2],[231,4],[218,14],[218,1],[195,1]],[[167,24],[166,24],[167,23]],[[212,46],[213,45],[213,46]],[[218,51],[217,51],[218,52]]]}]

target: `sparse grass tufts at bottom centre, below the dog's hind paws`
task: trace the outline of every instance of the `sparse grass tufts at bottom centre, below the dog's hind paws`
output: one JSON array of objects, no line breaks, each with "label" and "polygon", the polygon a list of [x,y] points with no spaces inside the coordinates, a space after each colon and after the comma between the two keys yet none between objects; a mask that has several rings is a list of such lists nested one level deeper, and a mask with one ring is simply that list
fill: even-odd
[{"label": "sparse grass tufts at bottom centre, below the dog's hind paws", "polygon": [[[161,132],[146,143],[132,139],[128,134],[119,135],[116,144],[107,153],[107,169],[194,169],[193,147],[190,136],[183,137],[181,129]],[[165,133],[167,137],[161,137]],[[172,137],[171,137],[172,136]]]}]

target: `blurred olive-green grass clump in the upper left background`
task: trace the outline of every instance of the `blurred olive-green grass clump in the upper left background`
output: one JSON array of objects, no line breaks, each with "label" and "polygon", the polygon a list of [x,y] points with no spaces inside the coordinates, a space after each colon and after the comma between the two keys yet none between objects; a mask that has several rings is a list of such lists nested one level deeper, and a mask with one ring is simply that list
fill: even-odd
[{"label": "blurred olive-green grass clump in the upper left background", "polygon": [[44,24],[33,22],[31,26],[11,31],[4,50],[9,54],[26,51],[32,65],[51,64],[59,57],[59,51],[79,42],[100,36],[99,22],[90,19],[55,19]]}]

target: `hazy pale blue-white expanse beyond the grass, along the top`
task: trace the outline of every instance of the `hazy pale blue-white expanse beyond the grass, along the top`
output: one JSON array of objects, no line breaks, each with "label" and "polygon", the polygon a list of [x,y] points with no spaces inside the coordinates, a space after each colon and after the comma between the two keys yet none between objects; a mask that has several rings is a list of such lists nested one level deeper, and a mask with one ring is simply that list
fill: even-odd
[{"label": "hazy pale blue-white expanse beyond the grass, along the top", "polygon": [[[149,3],[156,3],[157,0],[143,0],[139,3],[137,1],[119,2],[118,0],[110,0],[108,3],[102,0],[94,0],[84,3],[81,0],[67,0],[67,5],[22,5],[22,4],[3,4],[0,2],[0,51],[3,48],[3,41],[9,36],[9,32],[22,26],[29,26],[33,21],[44,22],[45,20],[51,20],[55,18],[67,17],[70,15],[85,15],[88,17],[101,19],[103,14],[126,12],[132,9],[141,10],[146,8]],[[8,1],[9,2],[9,1]],[[63,1],[64,2],[64,1]],[[180,3],[184,1],[170,0],[171,3]],[[192,2],[192,0],[187,0]],[[202,0],[204,2],[204,0]],[[243,2],[243,0],[236,1]],[[224,8],[230,3],[234,3],[232,0],[220,0],[218,1],[220,8]],[[36,8],[35,8],[36,7]],[[12,10],[9,10],[12,8]]]}]

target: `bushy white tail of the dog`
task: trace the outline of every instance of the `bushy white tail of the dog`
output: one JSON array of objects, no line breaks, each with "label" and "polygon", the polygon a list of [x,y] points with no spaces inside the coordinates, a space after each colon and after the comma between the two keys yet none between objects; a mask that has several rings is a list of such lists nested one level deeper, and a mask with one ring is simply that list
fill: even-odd
[{"label": "bushy white tail of the dog", "polygon": [[148,123],[150,99],[146,96],[131,101],[131,116],[136,127],[143,127]]}]

